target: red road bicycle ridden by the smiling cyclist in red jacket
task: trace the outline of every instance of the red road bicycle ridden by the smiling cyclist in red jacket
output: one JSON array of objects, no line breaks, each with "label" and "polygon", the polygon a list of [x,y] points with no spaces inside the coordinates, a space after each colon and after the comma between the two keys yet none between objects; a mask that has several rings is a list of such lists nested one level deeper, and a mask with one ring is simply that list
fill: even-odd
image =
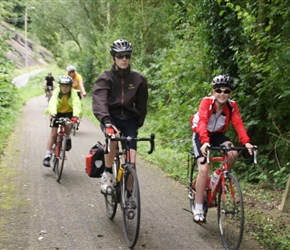
[{"label": "red road bicycle ridden by the smiling cyclist in red jacket", "polygon": [[[210,156],[211,150],[218,151],[219,155]],[[238,151],[240,155],[243,151],[247,150],[247,148],[232,147],[231,145],[220,145],[219,147],[210,146],[207,148],[207,157],[204,159],[202,164],[205,164],[206,162],[209,164],[220,162],[221,166],[218,168],[220,175],[213,189],[210,188],[210,175],[207,178],[203,209],[206,218],[208,209],[217,207],[218,227],[223,246],[227,250],[236,250],[240,247],[243,238],[245,217],[242,190],[239,181],[228,169],[227,152],[231,150]],[[257,164],[257,146],[254,146],[252,149],[252,156],[250,161],[246,164],[252,162]],[[197,174],[197,171],[197,160],[193,151],[190,150],[188,154],[188,198],[190,201],[190,212],[192,214],[195,209],[196,179],[194,179],[194,176]]]}]

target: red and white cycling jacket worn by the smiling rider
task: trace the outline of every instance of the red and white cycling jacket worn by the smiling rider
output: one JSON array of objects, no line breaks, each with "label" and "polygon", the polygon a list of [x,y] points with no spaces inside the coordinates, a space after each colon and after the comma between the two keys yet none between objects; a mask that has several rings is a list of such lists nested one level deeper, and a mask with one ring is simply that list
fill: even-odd
[{"label": "red and white cycling jacket worn by the smiling rider", "polygon": [[238,105],[235,101],[229,100],[224,106],[221,115],[216,114],[216,101],[214,96],[202,99],[199,110],[190,118],[192,131],[199,135],[201,144],[210,142],[209,135],[219,132],[226,132],[232,122],[240,142],[245,145],[250,142],[246,128],[243,124]]}]

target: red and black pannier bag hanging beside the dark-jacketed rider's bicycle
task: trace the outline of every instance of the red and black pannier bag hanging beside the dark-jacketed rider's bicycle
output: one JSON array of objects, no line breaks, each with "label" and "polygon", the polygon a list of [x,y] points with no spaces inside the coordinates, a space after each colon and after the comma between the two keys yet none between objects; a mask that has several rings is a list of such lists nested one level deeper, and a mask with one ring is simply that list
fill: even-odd
[{"label": "red and black pannier bag hanging beside the dark-jacketed rider's bicycle", "polygon": [[86,156],[86,172],[89,177],[100,178],[104,170],[104,147],[98,142]]}]

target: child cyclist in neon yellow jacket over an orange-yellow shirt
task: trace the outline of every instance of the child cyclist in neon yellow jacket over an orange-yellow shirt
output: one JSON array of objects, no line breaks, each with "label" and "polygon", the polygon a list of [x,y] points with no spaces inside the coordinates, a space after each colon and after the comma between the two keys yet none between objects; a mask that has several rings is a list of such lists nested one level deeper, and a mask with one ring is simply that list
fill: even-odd
[{"label": "child cyclist in neon yellow jacket over an orange-yellow shirt", "polygon": [[[70,76],[61,76],[58,80],[59,87],[55,89],[51,97],[45,114],[50,115],[51,132],[47,141],[45,158],[43,165],[50,166],[51,150],[57,137],[58,124],[52,122],[53,117],[67,117],[73,121],[77,121],[82,115],[81,101],[77,92],[72,88],[72,78]],[[65,128],[66,151],[71,149],[70,125],[67,124]]]}]

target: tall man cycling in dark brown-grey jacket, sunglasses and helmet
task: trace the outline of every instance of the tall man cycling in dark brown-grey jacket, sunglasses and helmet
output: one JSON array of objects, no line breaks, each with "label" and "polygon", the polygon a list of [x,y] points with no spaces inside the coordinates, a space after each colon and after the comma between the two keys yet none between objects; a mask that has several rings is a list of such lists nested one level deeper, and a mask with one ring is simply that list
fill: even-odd
[{"label": "tall man cycling in dark brown-grey jacket, sunglasses and helmet", "polygon": [[[148,84],[144,76],[130,68],[132,45],[118,39],[110,48],[113,66],[103,72],[93,88],[93,113],[101,122],[106,134],[137,136],[147,113]],[[130,144],[131,163],[136,163],[136,142]],[[116,142],[111,143],[110,153],[105,155],[105,172],[101,178],[101,192],[107,193],[112,183],[112,164]]]}]

